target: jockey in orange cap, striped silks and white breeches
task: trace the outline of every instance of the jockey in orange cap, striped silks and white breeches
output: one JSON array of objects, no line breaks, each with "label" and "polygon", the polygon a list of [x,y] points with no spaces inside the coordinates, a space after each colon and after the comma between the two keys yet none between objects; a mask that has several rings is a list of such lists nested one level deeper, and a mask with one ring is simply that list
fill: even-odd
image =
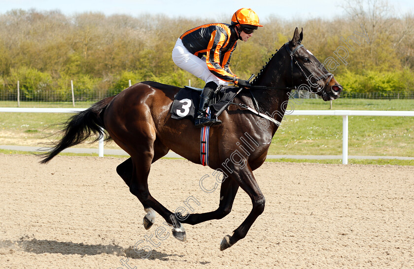
[{"label": "jockey in orange cap, striped silks and white breeches", "polygon": [[185,32],[177,39],[173,49],[174,63],[206,82],[195,119],[195,126],[213,126],[221,120],[207,118],[207,107],[214,91],[220,85],[232,82],[240,87],[248,87],[247,80],[240,79],[230,70],[230,58],[236,49],[237,40],[247,41],[254,30],[263,25],[250,8],[237,10],[231,25],[210,23]]}]

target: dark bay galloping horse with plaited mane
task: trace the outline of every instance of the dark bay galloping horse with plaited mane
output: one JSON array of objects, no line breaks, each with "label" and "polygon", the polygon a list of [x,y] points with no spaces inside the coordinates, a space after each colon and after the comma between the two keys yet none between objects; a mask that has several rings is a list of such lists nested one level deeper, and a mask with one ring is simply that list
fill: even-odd
[{"label": "dark bay galloping horse with plaited mane", "polygon": [[[253,102],[244,90],[234,102],[249,107],[257,103],[264,114],[272,115],[280,122],[292,88],[315,92],[324,101],[338,98],[342,86],[303,47],[302,38],[303,31],[299,33],[296,28],[292,40],[273,55],[252,82],[251,91],[257,102]],[[48,162],[62,150],[84,142],[91,135],[102,135],[101,128],[104,128],[108,136],[131,156],[116,170],[147,212],[143,222],[145,229],[154,223],[157,212],[173,227],[173,235],[182,241],[186,236],[181,223],[195,225],[225,217],[230,213],[240,187],[251,198],[252,209],[233,234],[223,238],[220,249],[224,250],[244,238],[264,210],[265,197],[252,171],[265,161],[278,124],[267,119],[267,124],[258,124],[263,123],[262,117],[230,105],[219,116],[223,123],[210,128],[209,166],[222,172],[224,179],[218,208],[201,214],[174,214],[151,196],[147,180],[151,164],[169,150],[194,163],[201,163],[200,129],[189,120],[172,119],[169,113],[179,89],[145,81],[99,101],[69,118],[62,130],[63,138],[43,154],[41,162]]]}]

